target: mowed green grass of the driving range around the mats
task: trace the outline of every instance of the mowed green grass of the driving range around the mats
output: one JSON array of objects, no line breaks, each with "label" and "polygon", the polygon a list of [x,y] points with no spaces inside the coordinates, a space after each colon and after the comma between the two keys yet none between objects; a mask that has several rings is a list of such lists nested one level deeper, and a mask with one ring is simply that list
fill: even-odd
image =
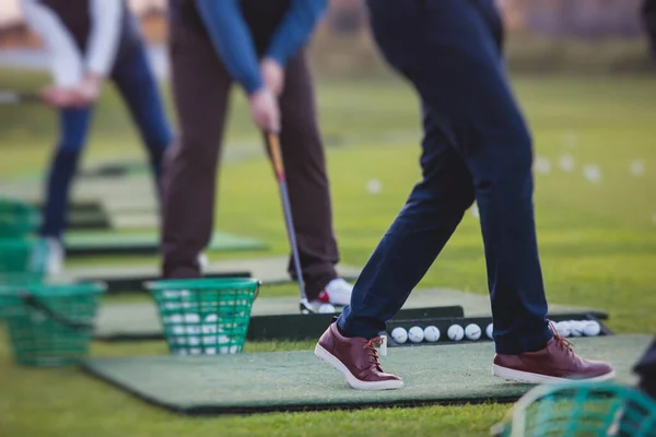
[{"label": "mowed green grass of the driving range around the mats", "polygon": [[[44,83],[40,75],[0,72],[1,88],[33,90]],[[618,333],[656,333],[656,80],[514,78],[514,85],[534,130],[537,225],[549,299],[608,311],[608,324]],[[167,93],[166,98],[168,104]],[[342,261],[362,265],[420,178],[419,106],[410,88],[396,79],[320,82],[318,102]],[[286,253],[277,186],[238,91],[234,104],[219,180],[218,227],[260,238],[271,250],[210,256]],[[2,178],[43,173],[55,134],[56,117],[50,109],[0,107]],[[142,157],[120,102],[107,88],[96,109],[84,163]],[[586,174],[594,180],[586,179]],[[380,182],[377,194],[366,189],[372,179]],[[487,293],[475,214],[466,214],[420,284],[431,285]],[[290,286],[262,290],[262,295],[294,293]],[[312,346],[312,342],[247,344],[247,351]],[[92,349],[96,356],[165,353],[163,342],[94,343]],[[326,371],[333,370],[327,367]],[[342,383],[335,375],[335,383]],[[184,418],[148,406],[77,369],[19,368],[11,362],[4,338],[0,340],[0,391],[2,436],[484,436],[509,408],[483,404]]]}]

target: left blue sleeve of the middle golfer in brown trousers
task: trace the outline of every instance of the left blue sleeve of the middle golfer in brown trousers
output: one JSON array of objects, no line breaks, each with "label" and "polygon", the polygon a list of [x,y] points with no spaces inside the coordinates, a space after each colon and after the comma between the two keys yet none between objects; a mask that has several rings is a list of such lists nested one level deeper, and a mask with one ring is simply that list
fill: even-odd
[{"label": "left blue sleeve of the middle golfer in brown trousers", "polygon": [[239,0],[197,0],[198,11],[225,69],[251,95],[262,87],[253,37]]}]

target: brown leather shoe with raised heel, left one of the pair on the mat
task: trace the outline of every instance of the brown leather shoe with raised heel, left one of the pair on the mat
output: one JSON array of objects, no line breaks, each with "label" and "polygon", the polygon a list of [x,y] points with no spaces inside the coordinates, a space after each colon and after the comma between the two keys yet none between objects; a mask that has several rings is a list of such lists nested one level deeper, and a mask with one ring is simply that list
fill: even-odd
[{"label": "brown leather shoe with raised heel, left one of the pair on the mat", "polygon": [[372,340],[343,336],[332,323],[319,339],[315,355],[342,374],[354,389],[400,389],[403,387],[401,378],[385,374],[380,368],[376,351],[380,342],[379,336]]}]

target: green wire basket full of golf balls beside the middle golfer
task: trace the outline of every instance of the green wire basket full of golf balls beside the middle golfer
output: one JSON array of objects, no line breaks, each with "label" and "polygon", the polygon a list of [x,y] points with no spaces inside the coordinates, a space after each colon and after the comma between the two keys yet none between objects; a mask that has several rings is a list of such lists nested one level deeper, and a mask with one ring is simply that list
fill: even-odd
[{"label": "green wire basket full of golf balls beside the middle golfer", "polygon": [[147,284],[157,305],[168,349],[175,355],[241,353],[259,286],[258,280],[245,277]]}]

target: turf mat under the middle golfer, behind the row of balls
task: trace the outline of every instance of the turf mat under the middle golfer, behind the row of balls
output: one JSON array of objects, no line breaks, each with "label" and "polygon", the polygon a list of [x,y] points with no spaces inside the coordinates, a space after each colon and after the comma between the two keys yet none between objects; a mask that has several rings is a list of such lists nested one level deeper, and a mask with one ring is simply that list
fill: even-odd
[{"label": "turf mat under the middle golfer, behind the row of balls", "polygon": [[[253,275],[254,277],[260,277]],[[403,308],[426,308],[437,306],[461,306],[467,317],[490,316],[490,300],[487,295],[464,293],[449,288],[415,290]],[[606,318],[602,311],[590,308],[550,305],[550,311],[558,314],[589,312]],[[258,297],[253,306],[254,316],[286,315],[298,312],[298,298]],[[130,304],[104,304],[96,321],[96,338],[104,340],[156,339],[162,335],[157,311],[151,302]]]}]

